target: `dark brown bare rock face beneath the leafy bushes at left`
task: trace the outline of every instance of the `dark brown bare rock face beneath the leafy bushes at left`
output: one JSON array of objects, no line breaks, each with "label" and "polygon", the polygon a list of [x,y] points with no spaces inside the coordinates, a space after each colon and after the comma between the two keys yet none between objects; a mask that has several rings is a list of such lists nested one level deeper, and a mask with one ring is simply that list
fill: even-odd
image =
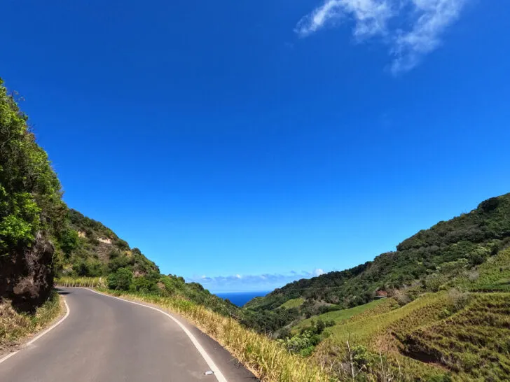
[{"label": "dark brown bare rock face beneath the leafy bushes at left", "polygon": [[0,260],[0,297],[11,299],[20,311],[42,304],[53,288],[53,253],[53,244],[38,232],[31,248],[20,248]]}]

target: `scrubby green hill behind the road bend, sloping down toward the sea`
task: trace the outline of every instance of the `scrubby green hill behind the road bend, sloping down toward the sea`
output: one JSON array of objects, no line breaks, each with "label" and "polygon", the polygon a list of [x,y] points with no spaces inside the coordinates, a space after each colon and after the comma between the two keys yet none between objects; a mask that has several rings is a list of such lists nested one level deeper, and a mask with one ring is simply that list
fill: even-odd
[{"label": "scrubby green hill behind the road bend, sloping down toward the sea", "polygon": [[62,279],[76,277],[101,278],[113,290],[139,292],[163,297],[187,299],[218,313],[235,316],[237,306],[212,295],[198,283],[184,278],[160,274],[158,266],[138,248],[130,248],[113,230],[101,222],[69,210],[64,256],[60,261]]}]

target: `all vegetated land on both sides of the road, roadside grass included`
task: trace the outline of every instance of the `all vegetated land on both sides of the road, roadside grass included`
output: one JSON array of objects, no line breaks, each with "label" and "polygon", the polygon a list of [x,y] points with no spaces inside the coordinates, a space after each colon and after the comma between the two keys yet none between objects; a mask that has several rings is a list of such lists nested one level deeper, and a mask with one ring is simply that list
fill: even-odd
[{"label": "all vegetated land on both sides of the road, roadside grass included", "polygon": [[55,275],[182,313],[267,381],[510,376],[510,194],[239,309],[69,210],[0,80],[0,350],[58,316]]}]

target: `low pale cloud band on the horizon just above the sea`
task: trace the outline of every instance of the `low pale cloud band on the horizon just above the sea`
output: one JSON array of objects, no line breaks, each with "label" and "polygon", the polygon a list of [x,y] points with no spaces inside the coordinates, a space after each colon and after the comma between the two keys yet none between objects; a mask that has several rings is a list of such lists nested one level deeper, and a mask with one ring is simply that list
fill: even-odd
[{"label": "low pale cloud band on the horizon just above the sea", "polygon": [[204,288],[214,292],[245,292],[264,291],[280,288],[292,281],[301,278],[312,278],[324,274],[323,269],[316,268],[313,271],[290,271],[288,274],[259,274],[209,277],[206,275],[193,276],[186,279],[188,282],[200,283]]}]

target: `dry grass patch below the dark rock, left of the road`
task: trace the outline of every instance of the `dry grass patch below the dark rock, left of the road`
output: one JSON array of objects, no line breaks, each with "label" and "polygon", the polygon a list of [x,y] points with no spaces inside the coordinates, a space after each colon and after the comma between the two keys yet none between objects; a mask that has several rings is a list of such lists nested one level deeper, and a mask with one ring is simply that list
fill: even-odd
[{"label": "dry grass patch below the dark rock, left of the road", "polygon": [[0,353],[18,346],[30,334],[46,327],[63,309],[57,293],[53,293],[34,315],[18,313],[11,302],[4,300],[0,304]]}]

